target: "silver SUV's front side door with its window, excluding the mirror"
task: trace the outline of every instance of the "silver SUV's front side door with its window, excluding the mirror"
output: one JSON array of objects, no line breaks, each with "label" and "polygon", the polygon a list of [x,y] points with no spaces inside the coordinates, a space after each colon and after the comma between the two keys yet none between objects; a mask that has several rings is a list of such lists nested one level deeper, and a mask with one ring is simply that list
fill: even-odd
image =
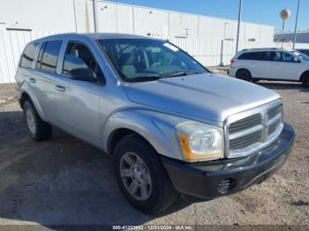
[{"label": "silver SUV's front side door with its window, excluding the mirror", "polygon": [[[88,68],[98,78],[96,82],[74,80],[69,72],[74,68]],[[100,140],[100,95],[103,91],[102,71],[86,44],[70,41],[67,45],[62,75],[67,82],[64,98],[59,103],[62,128],[96,145]]]}]

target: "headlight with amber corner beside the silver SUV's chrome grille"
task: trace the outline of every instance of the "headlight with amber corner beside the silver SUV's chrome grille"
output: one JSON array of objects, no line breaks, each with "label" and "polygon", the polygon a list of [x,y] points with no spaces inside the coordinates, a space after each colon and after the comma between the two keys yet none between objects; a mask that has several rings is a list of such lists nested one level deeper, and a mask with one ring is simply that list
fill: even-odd
[{"label": "headlight with amber corner beside the silver SUV's chrome grille", "polygon": [[222,130],[201,123],[181,123],[177,135],[185,160],[215,160],[223,157]]}]

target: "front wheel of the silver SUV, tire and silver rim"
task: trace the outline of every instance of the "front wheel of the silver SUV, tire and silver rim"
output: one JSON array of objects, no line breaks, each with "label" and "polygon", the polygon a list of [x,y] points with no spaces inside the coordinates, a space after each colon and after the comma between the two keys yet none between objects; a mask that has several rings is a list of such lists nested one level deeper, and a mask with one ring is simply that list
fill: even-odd
[{"label": "front wheel of the silver SUV, tire and silver rim", "polygon": [[142,212],[163,212],[177,199],[178,193],[170,183],[158,153],[137,135],[129,135],[118,142],[114,170],[120,190]]}]

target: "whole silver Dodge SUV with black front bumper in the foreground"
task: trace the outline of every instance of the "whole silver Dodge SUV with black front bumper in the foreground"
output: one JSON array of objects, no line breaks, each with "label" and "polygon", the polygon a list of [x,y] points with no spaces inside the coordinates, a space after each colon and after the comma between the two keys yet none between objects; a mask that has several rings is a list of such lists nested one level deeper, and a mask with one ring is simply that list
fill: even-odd
[{"label": "whole silver Dodge SUV with black front bumper in the foreground", "polygon": [[109,153],[120,190],[147,213],[260,183],[294,139],[277,93],[214,75],[169,41],[49,36],[26,46],[16,80],[32,138],[56,126]]}]

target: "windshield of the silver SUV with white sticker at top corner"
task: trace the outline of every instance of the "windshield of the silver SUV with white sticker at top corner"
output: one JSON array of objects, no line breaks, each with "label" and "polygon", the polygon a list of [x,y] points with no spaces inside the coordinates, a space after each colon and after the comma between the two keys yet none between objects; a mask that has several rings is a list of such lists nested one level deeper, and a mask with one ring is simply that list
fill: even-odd
[{"label": "windshield of the silver SUV with white sticker at top corner", "polygon": [[151,39],[98,40],[121,78],[148,81],[207,72],[191,56],[166,41]]}]

